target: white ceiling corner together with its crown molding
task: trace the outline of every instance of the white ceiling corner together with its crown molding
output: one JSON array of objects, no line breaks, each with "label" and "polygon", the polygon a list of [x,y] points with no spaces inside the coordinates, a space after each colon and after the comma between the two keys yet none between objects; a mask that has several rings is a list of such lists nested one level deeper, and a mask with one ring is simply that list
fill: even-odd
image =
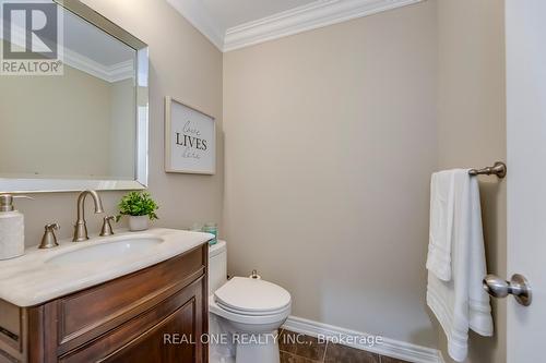
[{"label": "white ceiling corner together with its crown molding", "polygon": [[230,51],[426,0],[167,0]]}]

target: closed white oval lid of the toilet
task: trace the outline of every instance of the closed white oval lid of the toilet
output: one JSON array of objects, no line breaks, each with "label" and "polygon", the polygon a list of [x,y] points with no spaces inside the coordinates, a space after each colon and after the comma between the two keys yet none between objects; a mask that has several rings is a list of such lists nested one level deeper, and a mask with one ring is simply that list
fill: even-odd
[{"label": "closed white oval lid of the toilet", "polygon": [[216,290],[214,300],[230,311],[257,315],[286,308],[290,304],[290,294],[264,280],[234,277]]}]

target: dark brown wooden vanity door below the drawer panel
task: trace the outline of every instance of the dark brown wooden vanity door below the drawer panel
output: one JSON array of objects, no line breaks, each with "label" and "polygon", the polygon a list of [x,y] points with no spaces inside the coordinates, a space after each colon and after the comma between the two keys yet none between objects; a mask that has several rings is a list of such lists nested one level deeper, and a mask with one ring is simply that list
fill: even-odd
[{"label": "dark brown wooden vanity door below the drawer panel", "polygon": [[[98,339],[68,352],[63,363],[206,362],[205,277]],[[176,337],[178,338],[174,338]]]}]

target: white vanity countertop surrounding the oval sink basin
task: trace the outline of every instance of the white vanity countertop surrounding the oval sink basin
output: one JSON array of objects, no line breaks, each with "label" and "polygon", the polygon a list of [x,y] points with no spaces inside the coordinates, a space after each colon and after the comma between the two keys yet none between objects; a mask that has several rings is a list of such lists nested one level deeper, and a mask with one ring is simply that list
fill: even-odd
[{"label": "white vanity countertop surrounding the oval sink basin", "polygon": [[[91,245],[121,240],[162,239],[161,243],[141,253],[104,261],[56,264],[51,258]],[[99,285],[188,252],[213,238],[209,233],[174,229],[152,229],[144,232],[123,232],[106,238],[91,238],[86,242],[59,241],[59,246],[25,250],[21,257],[0,261],[0,299],[17,306],[39,305],[72,292]]]}]

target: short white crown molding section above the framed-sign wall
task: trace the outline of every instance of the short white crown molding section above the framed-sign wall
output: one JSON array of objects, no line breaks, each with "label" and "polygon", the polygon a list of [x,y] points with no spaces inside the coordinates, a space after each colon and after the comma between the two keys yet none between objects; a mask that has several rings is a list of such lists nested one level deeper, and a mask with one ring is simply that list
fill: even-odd
[{"label": "short white crown molding section above the framed-sign wall", "polygon": [[225,31],[209,15],[201,0],[167,0],[167,2],[223,51]]}]

